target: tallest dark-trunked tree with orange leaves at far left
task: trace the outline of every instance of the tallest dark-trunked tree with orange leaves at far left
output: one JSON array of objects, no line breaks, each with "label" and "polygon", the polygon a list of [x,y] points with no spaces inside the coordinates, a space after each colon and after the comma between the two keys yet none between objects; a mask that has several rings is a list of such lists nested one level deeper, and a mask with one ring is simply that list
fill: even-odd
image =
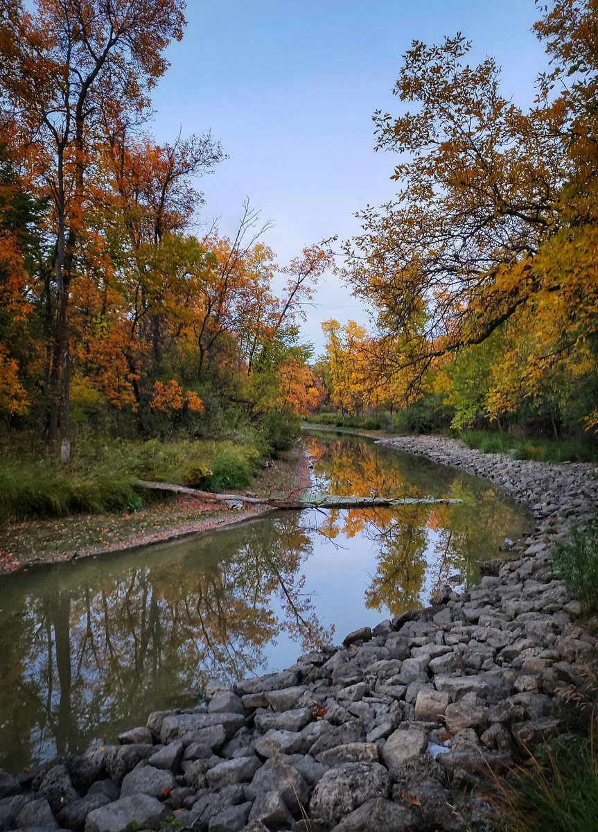
[{"label": "tallest dark-trunked tree with orange leaves at far left", "polygon": [[70,455],[69,297],[96,201],[103,104],[111,100],[122,113],[147,105],[166,70],[166,46],[182,37],[183,7],[180,0],[38,0],[33,12],[20,0],[3,0],[0,7],[3,119],[27,157],[33,185],[52,200],[48,435],[60,432],[63,460]]}]

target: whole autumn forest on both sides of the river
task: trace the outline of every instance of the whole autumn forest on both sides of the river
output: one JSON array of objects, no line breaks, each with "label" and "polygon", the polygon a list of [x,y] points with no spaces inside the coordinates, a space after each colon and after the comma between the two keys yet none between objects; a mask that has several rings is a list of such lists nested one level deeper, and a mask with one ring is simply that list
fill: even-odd
[{"label": "whole autumn forest on both sides of the river", "polygon": [[[151,478],[156,466],[123,442],[192,440],[199,453],[229,440],[227,464],[255,468],[322,410],[402,414],[395,428],[593,437],[596,0],[536,5],[547,68],[533,106],[502,92],[492,57],[470,65],[460,33],[414,41],[393,88],[398,115],[373,116],[396,198],[363,210],[353,240],[305,245],[280,265],[249,201],[231,238],[200,223],[198,182],[225,158],[220,141],[152,137],[151,92],[183,37],[183,2],[2,0],[0,417],[5,456],[21,455],[2,473],[12,503],[26,452],[89,465],[100,443],[120,448],[104,453],[108,468],[132,454],[127,472]],[[330,319],[318,357],[299,324],[338,268],[372,326]],[[176,481],[209,486],[210,448]],[[241,462],[240,448],[251,448]],[[111,499],[131,502],[131,489]]]}]

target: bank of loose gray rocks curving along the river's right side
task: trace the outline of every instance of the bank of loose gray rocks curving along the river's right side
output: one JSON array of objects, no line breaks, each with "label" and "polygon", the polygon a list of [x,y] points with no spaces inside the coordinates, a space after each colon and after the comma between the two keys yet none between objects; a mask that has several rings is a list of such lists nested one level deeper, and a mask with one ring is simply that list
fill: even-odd
[{"label": "bank of loose gray rocks curving along the river's right side", "polygon": [[389,440],[531,501],[526,554],[469,592],[446,587],[432,607],[354,631],[286,671],[213,681],[207,705],[153,713],[118,745],[1,775],[0,830],[127,832],[169,818],[194,832],[492,824],[488,774],[564,730],[596,653],[596,622],[576,623],[551,541],[586,522],[598,483],[591,466],[410,441]]}]

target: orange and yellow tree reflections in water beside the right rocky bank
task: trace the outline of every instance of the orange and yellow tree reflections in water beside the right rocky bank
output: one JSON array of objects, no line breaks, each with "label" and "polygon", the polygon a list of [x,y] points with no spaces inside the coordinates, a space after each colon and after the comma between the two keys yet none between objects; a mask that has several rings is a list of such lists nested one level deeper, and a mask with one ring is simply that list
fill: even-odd
[{"label": "orange and yellow tree reflections in water beside the right rocky bank", "polygon": [[[471,583],[479,559],[494,557],[505,537],[523,533],[521,508],[505,502],[490,483],[408,454],[351,436],[309,436],[318,488],[347,496],[459,498],[402,508],[330,511],[319,531],[334,540],[358,533],[377,547],[375,574],[365,604],[397,616],[428,602],[429,593],[450,581]],[[457,576],[458,578],[453,576]]]}]

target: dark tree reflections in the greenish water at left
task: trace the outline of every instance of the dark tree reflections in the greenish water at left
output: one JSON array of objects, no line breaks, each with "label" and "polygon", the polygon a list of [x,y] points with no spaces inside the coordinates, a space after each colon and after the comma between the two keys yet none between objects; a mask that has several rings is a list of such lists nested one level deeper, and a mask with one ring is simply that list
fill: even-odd
[{"label": "dark tree reflections in the greenish water at left", "polygon": [[0,699],[12,707],[0,725],[0,765],[80,750],[107,730],[131,727],[133,714],[172,706],[173,694],[193,692],[180,702],[193,704],[210,676],[232,681],[264,669],[264,645],[283,631],[301,646],[332,640],[304,592],[300,568],[311,542],[299,513],[184,549],[182,557],[180,545],[172,555],[160,547],[149,557],[123,554],[7,580]]}]

